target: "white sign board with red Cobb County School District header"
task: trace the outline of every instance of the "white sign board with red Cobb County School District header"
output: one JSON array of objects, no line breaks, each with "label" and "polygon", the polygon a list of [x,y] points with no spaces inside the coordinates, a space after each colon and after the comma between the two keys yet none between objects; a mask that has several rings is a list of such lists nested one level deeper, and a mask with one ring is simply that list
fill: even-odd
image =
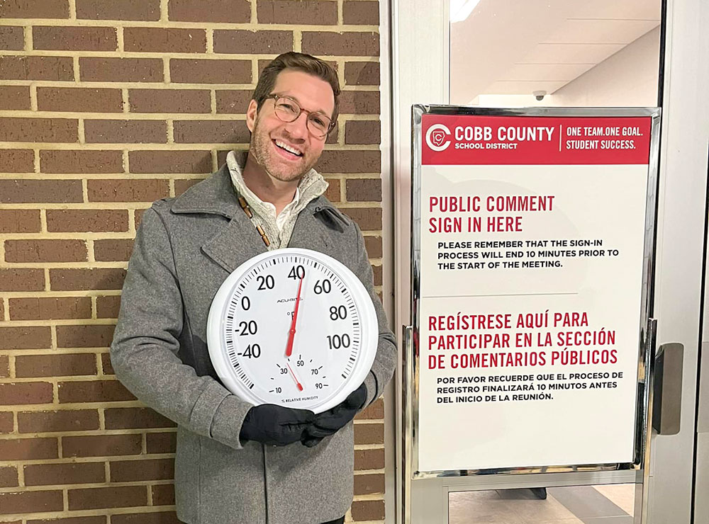
[{"label": "white sign board with red Cobb County School District header", "polygon": [[651,131],[423,115],[419,472],[635,460]]}]

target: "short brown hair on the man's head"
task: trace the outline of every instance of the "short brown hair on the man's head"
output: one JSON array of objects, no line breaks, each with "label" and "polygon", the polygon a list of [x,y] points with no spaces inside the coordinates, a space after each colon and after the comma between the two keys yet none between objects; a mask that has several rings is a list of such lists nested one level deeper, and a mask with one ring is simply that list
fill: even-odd
[{"label": "short brown hair on the man's head", "polygon": [[330,84],[335,96],[335,110],[333,110],[333,122],[335,122],[339,106],[337,97],[340,96],[340,79],[337,78],[337,72],[328,62],[312,55],[295,51],[278,55],[264,67],[259,76],[259,83],[256,84],[256,89],[254,89],[254,94],[251,97],[256,101],[257,108],[261,109],[266,97],[271,94],[273,86],[276,85],[276,77],[284,69],[295,69],[296,71],[312,74]]}]

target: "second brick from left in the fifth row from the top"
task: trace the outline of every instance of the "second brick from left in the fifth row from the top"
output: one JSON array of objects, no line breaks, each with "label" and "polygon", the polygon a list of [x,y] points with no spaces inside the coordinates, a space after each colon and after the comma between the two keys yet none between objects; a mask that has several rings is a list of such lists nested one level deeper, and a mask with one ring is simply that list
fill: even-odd
[{"label": "second brick from left in the fifth row from the top", "polygon": [[167,143],[164,120],[85,120],[86,143]]}]

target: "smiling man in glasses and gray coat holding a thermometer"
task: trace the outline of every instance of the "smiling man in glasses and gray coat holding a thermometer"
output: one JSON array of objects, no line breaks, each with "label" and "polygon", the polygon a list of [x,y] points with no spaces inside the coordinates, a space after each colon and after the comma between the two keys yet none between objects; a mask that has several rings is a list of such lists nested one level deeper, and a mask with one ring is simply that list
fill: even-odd
[{"label": "smiling man in glasses and gray coat holding a thermometer", "polygon": [[[259,78],[247,154],[145,211],[111,346],[116,375],[175,421],[177,514],[188,524],[342,523],[352,503],[352,418],[381,395],[396,346],[357,224],[323,197],[313,170],[337,118],[337,73],[289,52]],[[208,310],[242,262],[281,247],[337,258],[364,283],[379,321],[367,380],[323,414],[252,406],[218,381]]]}]

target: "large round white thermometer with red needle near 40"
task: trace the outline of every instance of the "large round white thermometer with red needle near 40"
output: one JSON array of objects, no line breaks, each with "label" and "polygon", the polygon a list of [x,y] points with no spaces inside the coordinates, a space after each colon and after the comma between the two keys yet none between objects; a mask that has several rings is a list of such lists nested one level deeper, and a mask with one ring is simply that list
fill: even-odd
[{"label": "large round white thermometer with red needle near 40", "polygon": [[379,328],[364,285],[334,258],[309,249],[255,256],[219,288],[207,345],[225,387],[251,404],[316,413],[364,382]]}]

